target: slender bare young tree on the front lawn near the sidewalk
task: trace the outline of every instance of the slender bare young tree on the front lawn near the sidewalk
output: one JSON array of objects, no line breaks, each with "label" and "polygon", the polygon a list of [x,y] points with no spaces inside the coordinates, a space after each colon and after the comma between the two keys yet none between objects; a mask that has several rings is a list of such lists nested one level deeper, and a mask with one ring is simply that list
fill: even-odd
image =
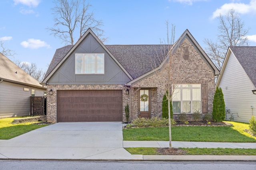
[{"label": "slender bare young tree on the front lawn near the sidewalk", "polygon": [[[154,70],[154,75],[158,84],[162,86],[166,99],[168,100],[168,121],[169,121],[169,145],[172,147],[172,131],[171,131],[171,109],[170,102],[172,102],[173,97],[176,93],[176,88],[187,76],[187,71],[182,64],[182,51],[174,51],[172,45],[174,44],[175,35],[175,25],[172,24],[171,39],[169,38],[169,21],[166,21],[167,28],[167,44],[161,42],[162,51],[157,59],[152,59],[152,68]],[[158,68],[161,68],[159,70]],[[177,70],[182,70],[178,72]]]}]

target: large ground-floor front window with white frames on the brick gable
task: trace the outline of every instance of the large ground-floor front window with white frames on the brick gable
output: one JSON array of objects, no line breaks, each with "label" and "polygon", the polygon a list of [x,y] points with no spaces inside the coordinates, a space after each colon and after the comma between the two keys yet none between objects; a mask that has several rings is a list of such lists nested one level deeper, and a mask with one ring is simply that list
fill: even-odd
[{"label": "large ground-floor front window with white frames on the brick gable", "polygon": [[201,84],[178,84],[172,98],[173,113],[201,113]]}]

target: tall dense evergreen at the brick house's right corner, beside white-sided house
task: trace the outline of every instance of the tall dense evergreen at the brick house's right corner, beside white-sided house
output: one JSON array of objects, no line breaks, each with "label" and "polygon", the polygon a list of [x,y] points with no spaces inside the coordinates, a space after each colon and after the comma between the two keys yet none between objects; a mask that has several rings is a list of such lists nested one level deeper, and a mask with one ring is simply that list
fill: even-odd
[{"label": "tall dense evergreen at the brick house's right corner, beside white-sided house", "polygon": [[212,107],[212,119],[214,121],[224,121],[225,120],[225,102],[224,96],[221,88],[216,88],[213,107]]}]

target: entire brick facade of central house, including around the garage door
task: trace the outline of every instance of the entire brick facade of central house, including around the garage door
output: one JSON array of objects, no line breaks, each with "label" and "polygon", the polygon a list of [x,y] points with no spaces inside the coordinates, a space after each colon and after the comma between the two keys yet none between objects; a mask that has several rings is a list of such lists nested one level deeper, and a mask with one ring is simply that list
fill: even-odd
[{"label": "entire brick facade of central house, including around the garage door", "polygon": [[[188,55],[186,58],[182,58],[180,61],[179,56],[184,53],[184,48],[188,49]],[[176,50],[174,58],[172,59],[173,64],[180,64],[178,67],[173,67],[173,76],[180,78],[182,82],[180,84],[206,84],[207,85],[207,96],[208,96],[208,112],[212,111],[212,101],[214,96],[214,73],[206,64],[204,59],[200,56],[198,51],[185,38]],[[175,69],[174,69],[175,68]],[[165,74],[166,68],[161,70],[161,74]],[[186,73],[185,77],[180,77]],[[124,108],[126,104],[130,106],[130,119],[136,119],[138,117],[138,90],[140,88],[149,88],[151,93],[150,103],[150,116],[162,116],[162,98],[164,96],[164,84],[159,83],[161,74],[153,74],[143,80],[140,80],[136,84],[130,86],[130,94],[126,94],[126,87],[124,84],[118,85],[48,85],[47,87],[47,121],[57,122],[57,92],[58,90],[122,90],[122,101],[123,101],[123,121],[126,121]],[[174,79],[172,79],[174,80]],[[173,83],[173,82],[170,82]],[[53,94],[50,95],[52,89]],[[130,98],[131,97],[131,98]],[[177,115],[174,115],[177,117]],[[190,118],[192,116],[189,116]]]}]

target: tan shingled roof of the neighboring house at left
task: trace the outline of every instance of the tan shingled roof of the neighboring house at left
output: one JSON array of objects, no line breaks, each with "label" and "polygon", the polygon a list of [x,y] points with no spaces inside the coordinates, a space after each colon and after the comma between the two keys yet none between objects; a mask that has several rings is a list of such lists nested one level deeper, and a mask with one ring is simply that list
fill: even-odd
[{"label": "tan shingled roof of the neighboring house at left", "polygon": [[0,53],[0,80],[43,88],[36,79],[10,61],[2,53]]}]

